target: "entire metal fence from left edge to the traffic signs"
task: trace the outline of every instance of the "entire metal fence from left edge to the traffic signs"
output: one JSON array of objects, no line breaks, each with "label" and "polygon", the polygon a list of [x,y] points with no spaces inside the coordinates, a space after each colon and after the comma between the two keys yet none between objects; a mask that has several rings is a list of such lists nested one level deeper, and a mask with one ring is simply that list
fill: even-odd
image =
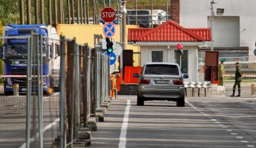
[{"label": "entire metal fence from left edge to the traffic signs", "polygon": [[[21,36],[1,39],[21,39]],[[26,94],[0,99],[0,147],[73,147],[84,142],[84,131],[91,131],[90,119],[96,119],[97,109],[110,98],[110,58],[76,39],[56,40],[60,51],[60,92],[43,96],[43,62],[51,47],[46,37],[32,33],[28,40],[27,63],[22,80]],[[49,53],[44,53],[49,49]],[[53,73],[52,73],[53,74]],[[56,74],[54,74],[56,76]],[[4,77],[4,76],[3,76]],[[5,79],[8,79],[6,76]],[[20,78],[21,79],[21,78]],[[21,89],[21,88],[20,88]],[[23,88],[24,89],[24,88]],[[110,98],[111,99],[111,98]],[[84,143],[83,143],[84,142]]]}]

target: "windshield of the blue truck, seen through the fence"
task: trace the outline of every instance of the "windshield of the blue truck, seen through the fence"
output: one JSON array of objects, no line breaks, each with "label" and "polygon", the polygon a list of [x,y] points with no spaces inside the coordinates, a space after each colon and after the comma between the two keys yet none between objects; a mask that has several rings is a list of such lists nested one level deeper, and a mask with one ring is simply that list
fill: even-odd
[{"label": "windshield of the blue truck, seen through the fence", "polygon": [[[26,58],[28,55],[28,46],[21,45],[12,45],[5,48],[5,58],[6,59],[16,59],[16,58]],[[46,57],[46,46],[43,46],[43,58]]]}]

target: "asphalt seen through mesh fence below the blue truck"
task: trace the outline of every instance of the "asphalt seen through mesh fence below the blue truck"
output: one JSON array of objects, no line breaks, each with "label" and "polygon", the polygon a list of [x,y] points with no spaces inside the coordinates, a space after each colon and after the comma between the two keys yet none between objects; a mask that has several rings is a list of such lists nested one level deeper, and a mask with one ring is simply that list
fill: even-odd
[{"label": "asphalt seen through mesh fence below the blue truck", "polygon": [[[38,112],[37,102],[32,97],[31,103],[31,144],[38,146]],[[52,146],[53,140],[59,131],[59,97],[43,98],[43,133],[44,147]],[[26,142],[26,96],[4,96],[0,93],[0,147],[25,147]]]}]

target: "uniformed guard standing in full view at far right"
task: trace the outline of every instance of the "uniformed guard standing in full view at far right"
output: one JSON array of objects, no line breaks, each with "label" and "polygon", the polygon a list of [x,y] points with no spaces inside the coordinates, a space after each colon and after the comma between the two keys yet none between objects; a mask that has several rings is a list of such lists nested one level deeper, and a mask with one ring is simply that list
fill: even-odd
[{"label": "uniformed guard standing in full view at far right", "polygon": [[241,97],[241,81],[242,81],[242,68],[240,67],[240,63],[235,63],[235,84],[233,86],[233,94],[230,97],[235,96],[235,88],[238,87],[238,95],[235,97]]}]

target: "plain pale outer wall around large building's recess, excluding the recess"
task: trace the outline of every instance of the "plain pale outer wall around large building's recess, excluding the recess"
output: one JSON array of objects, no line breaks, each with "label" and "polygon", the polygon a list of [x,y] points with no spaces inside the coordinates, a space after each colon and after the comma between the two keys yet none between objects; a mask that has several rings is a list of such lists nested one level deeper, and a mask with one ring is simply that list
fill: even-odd
[{"label": "plain pale outer wall around large building's recess, excluding the recess", "polygon": [[[180,0],[180,25],[184,27],[208,27],[211,0]],[[224,8],[223,16],[240,17],[240,47],[249,47],[250,60],[256,60],[253,51],[256,41],[255,0],[214,0],[214,12]],[[197,5],[194,5],[197,4]]]}]

